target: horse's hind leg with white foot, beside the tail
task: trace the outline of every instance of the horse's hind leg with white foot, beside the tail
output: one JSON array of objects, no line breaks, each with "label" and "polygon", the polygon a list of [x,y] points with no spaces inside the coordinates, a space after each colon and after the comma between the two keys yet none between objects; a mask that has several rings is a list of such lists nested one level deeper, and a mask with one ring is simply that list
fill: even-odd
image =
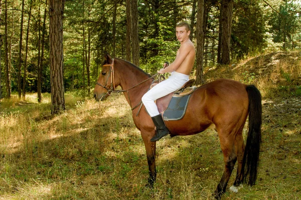
[{"label": "horse's hind leg with white foot, beside the tail", "polygon": [[244,141],[242,136],[242,129],[243,127],[235,137],[235,147],[236,147],[236,155],[237,155],[237,173],[236,173],[235,181],[233,185],[230,187],[230,190],[233,192],[238,192],[238,189],[242,187],[243,174],[241,172],[241,167],[242,167],[243,153],[244,153]]}]

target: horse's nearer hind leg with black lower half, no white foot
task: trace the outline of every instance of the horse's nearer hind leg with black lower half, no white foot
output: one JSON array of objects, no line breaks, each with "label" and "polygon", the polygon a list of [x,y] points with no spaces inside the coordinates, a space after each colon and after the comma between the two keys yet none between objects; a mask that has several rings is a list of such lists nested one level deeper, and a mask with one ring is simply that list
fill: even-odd
[{"label": "horse's nearer hind leg with black lower half, no white foot", "polygon": [[219,138],[220,138],[221,148],[224,155],[225,168],[224,168],[222,178],[218,183],[214,193],[214,197],[216,199],[220,199],[221,195],[225,193],[230,175],[232,173],[235,162],[237,160],[236,153],[235,153],[235,145],[234,145],[234,135],[232,133],[229,134],[226,133],[225,131],[220,131]]}]

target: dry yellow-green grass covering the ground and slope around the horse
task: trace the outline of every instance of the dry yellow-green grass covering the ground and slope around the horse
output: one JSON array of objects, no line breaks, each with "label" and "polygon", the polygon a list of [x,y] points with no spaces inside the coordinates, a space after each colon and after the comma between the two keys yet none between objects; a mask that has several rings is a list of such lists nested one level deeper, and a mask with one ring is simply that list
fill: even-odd
[{"label": "dry yellow-green grass covering the ground and slope around the horse", "polygon": [[[256,184],[238,193],[227,190],[222,199],[300,199],[297,55],[265,54],[204,70],[207,81],[228,77],[254,83],[263,94]],[[13,94],[0,102],[0,199],[211,198],[223,171],[215,131],[161,139],[157,182],[149,189],[144,144],[122,94],[95,102],[66,93],[67,109],[58,115],[50,113],[49,94],[43,94],[42,103],[36,96],[19,100]]]}]

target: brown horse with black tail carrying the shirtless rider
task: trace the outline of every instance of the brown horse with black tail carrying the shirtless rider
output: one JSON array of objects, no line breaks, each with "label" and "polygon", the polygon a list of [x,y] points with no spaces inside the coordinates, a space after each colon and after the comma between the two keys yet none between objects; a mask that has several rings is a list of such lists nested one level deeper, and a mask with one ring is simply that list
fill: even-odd
[{"label": "brown horse with black tail carrying the shirtless rider", "polygon": [[[124,92],[132,108],[132,117],[144,141],[149,169],[148,185],[156,180],[155,125],[141,105],[141,97],[153,82],[153,76],[134,64],[120,58],[112,59],[105,54],[102,71],[94,89],[96,101],[106,100],[113,92]],[[120,85],[121,90],[115,90]],[[141,107],[142,106],[142,107]],[[141,109],[140,109],[141,108]],[[244,124],[249,116],[246,145],[242,136]],[[246,181],[255,183],[261,143],[261,95],[254,85],[234,80],[218,79],[198,87],[189,99],[184,117],[178,121],[166,121],[172,135],[191,135],[215,128],[224,155],[224,172],[214,192],[220,199],[237,161],[237,173],[230,190],[237,192]]]}]

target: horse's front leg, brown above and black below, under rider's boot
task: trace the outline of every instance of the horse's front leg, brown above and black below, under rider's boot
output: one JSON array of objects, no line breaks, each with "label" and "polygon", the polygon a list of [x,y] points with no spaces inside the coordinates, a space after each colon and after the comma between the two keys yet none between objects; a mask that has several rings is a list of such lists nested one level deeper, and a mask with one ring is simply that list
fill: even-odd
[{"label": "horse's front leg, brown above and black below, under rider's boot", "polygon": [[[150,135],[150,136],[149,136]],[[152,188],[154,186],[154,182],[156,181],[157,171],[156,171],[156,142],[151,142],[150,138],[154,136],[154,134],[149,134],[143,130],[141,130],[141,136],[145,145],[149,177],[147,186]]]}]

